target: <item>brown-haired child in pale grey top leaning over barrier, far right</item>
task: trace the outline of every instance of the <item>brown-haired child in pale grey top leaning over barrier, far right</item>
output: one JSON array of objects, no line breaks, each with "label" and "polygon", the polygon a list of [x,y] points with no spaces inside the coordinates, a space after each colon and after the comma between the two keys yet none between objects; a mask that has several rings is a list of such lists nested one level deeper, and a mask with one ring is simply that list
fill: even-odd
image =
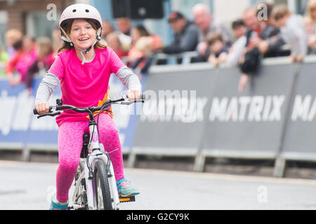
[{"label": "brown-haired child in pale grey top leaning over barrier, far right", "polygon": [[273,9],[272,18],[278,27],[282,27],[284,39],[291,48],[292,62],[303,62],[308,44],[302,16],[291,13],[285,5],[279,5]]}]

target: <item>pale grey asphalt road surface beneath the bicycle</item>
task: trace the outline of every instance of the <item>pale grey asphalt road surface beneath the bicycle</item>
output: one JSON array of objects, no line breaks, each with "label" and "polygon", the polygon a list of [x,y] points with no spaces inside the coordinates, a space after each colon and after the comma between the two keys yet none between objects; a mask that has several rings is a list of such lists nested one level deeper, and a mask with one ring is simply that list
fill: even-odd
[{"label": "pale grey asphalt road surface beneath the bicycle", "polygon": [[[57,167],[0,160],[0,209],[48,209]],[[316,209],[315,180],[153,169],[125,168],[124,172],[141,194],[120,209]]]}]

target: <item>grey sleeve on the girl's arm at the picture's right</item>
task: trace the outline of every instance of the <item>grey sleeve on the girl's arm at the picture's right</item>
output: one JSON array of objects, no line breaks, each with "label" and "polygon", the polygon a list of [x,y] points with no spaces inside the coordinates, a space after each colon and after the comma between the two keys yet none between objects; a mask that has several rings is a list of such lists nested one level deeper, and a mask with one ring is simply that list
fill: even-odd
[{"label": "grey sleeve on the girl's arm at the picture's right", "polygon": [[136,76],[136,74],[133,73],[133,71],[131,71],[131,69],[129,69],[127,66],[119,69],[115,75],[129,90],[140,90],[141,92],[142,85],[140,84],[138,76]]}]

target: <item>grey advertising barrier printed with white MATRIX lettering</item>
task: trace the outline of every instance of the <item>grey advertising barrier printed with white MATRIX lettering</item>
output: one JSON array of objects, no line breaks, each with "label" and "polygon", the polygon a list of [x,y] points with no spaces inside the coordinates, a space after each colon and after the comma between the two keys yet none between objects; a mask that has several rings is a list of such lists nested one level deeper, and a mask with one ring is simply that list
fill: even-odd
[{"label": "grey advertising barrier printed with white MATRIX lettering", "polygon": [[315,62],[315,56],[304,64],[265,59],[242,93],[237,68],[153,66],[146,83],[151,100],[143,106],[129,167],[137,155],[194,157],[197,172],[206,158],[243,158],[275,160],[273,175],[284,176],[287,160],[316,161]]}]

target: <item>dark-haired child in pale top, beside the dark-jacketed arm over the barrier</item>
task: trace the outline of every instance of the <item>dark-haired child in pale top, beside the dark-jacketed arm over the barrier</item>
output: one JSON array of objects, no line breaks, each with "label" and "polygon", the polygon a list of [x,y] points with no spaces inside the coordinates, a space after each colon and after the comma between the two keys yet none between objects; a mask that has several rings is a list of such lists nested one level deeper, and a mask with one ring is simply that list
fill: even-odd
[{"label": "dark-haired child in pale top, beside the dark-jacketed arm over the barrier", "polygon": [[247,28],[244,25],[244,21],[239,19],[232,22],[232,30],[237,41],[232,44],[228,52],[228,57],[225,61],[225,66],[227,67],[235,67],[239,64],[239,58],[242,57],[246,45]]}]

